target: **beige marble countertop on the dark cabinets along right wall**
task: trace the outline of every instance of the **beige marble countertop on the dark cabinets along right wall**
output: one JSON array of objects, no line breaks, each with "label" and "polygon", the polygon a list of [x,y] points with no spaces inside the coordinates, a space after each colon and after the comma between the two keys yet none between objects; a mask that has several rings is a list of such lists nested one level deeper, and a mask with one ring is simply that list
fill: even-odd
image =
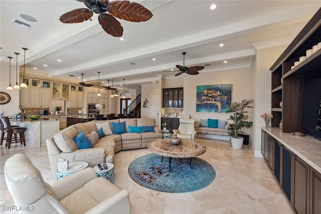
[{"label": "beige marble countertop on the dark cabinets along right wall", "polygon": [[321,141],[313,136],[306,135],[295,136],[289,133],[283,133],[279,128],[262,127],[272,137],[282,143],[290,151],[312,166],[316,171],[321,173]]}]

